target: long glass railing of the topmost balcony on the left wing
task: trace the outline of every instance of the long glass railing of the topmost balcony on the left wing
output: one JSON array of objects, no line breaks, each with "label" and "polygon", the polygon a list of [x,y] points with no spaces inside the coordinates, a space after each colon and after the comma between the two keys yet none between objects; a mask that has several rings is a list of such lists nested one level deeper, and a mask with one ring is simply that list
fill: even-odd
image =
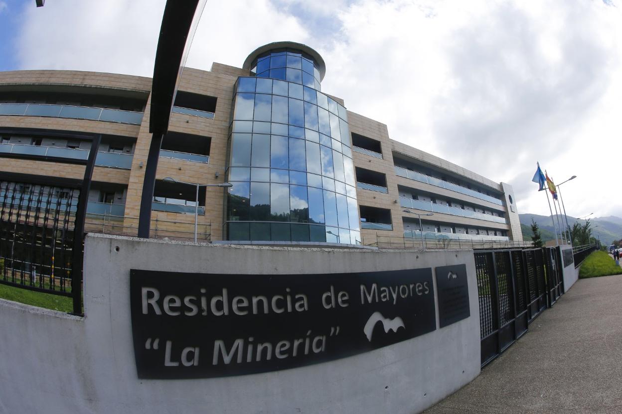
[{"label": "long glass railing of the topmost balcony on the left wing", "polygon": [[0,104],[0,115],[24,115],[31,117],[54,117],[89,119],[141,125],[142,112],[132,110],[94,108],[87,106],[53,104]]}]

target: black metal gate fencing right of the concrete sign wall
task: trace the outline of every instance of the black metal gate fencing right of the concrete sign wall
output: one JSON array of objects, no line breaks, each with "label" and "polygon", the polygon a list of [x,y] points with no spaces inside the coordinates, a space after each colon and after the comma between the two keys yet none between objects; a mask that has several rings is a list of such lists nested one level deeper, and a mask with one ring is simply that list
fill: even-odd
[{"label": "black metal gate fencing right of the concrete sign wall", "polygon": [[559,247],[474,254],[485,366],[564,293],[564,277]]}]

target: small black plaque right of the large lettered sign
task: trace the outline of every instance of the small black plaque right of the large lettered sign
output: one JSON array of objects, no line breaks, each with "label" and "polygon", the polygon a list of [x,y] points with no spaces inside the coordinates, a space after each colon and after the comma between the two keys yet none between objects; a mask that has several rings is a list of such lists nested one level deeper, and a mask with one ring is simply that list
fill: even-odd
[{"label": "small black plaque right of the large lettered sign", "polygon": [[470,317],[466,266],[464,264],[440,266],[435,271],[436,287],[439,289],[440,327]]}]

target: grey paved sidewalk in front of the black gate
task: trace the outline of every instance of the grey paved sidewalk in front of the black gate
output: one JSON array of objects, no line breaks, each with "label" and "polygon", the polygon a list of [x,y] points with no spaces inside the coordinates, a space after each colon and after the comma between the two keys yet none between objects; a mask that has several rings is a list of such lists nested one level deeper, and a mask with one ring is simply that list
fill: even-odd
[{"label": "grey paved sidewalk in front of the black gate", "polygon": [[580,279],[471,384],[425,414],[622,413],[622,275]]}]

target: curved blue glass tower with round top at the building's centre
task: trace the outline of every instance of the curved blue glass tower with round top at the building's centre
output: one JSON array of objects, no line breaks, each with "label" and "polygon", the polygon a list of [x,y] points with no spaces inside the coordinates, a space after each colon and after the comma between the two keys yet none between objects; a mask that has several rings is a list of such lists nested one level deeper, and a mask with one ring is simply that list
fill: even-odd
[{"label": "curved blue glass tower with round top at the building's centre", "polygon": [[346,109],[320,92],[322,56],[262,46],[236,82],[225,203],[227,240],[360,243]]}]

